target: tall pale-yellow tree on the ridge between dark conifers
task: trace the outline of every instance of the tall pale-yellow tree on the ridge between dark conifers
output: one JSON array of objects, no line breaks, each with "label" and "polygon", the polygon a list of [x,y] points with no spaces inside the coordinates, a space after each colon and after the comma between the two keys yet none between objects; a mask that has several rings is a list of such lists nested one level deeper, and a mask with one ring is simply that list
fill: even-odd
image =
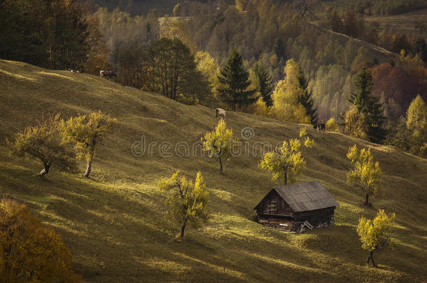
[{"label": "tall pale-yellow tree on the ridge between dark conifers", "polygon": [[299,97],[304,94],[304,89],[298,80],[300,70],[293,59],[286,61],[284,72],[285,78],[277,83],[272,94],[273,106],[270,113],[276,119],[309,124],[310,117],[307,116],[304,106],[298,102]]}]

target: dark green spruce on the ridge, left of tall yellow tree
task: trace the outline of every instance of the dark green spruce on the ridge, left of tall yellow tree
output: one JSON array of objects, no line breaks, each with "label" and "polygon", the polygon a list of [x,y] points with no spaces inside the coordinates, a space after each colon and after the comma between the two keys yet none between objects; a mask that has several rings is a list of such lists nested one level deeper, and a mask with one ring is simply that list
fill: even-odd
[{"label": "dark green spruce on the ridge, left of tall yellow tree", "polygon": [[249,73],[243,67],[241,55],[236,50],[231,52],[225,66],[221,68],[218,80],[223,85],[223,88],[218,89],[221,99],[230,104],[232,110],[236,110],[237,106],[248,106],[255,102],[252,97],[255,89],[246,90],[251,85],[251,81]]}]

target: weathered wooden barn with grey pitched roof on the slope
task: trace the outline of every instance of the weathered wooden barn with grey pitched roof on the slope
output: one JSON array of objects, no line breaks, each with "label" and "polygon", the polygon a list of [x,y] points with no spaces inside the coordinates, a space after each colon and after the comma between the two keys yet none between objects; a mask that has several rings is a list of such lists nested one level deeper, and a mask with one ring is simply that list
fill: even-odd
[{"label": "weathered wooden barn with grey pitched roof on the slope", "polygon": [[337,205],[329,191],[315,181],[273,187],[254,210],[260,224],[302,232],[332,225]]}]

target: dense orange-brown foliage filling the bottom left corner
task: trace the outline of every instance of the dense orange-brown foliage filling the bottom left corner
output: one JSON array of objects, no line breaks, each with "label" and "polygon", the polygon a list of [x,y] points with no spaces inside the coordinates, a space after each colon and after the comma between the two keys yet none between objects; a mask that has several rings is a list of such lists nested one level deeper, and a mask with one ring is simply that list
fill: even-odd
[{"label": "dense orange-brown foliage filling the bottom left corner", "polygon": [[0,201],[0,282],[78,282],[71,253],[26,205]]}]

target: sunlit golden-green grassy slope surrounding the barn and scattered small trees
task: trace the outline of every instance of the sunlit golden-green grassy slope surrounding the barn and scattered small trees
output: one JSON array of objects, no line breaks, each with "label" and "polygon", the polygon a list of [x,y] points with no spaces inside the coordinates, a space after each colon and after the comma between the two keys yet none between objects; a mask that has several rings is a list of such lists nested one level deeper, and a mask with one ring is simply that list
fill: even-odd
[{"label": "sunlit golden-green grassy slope surrounding the barn and scattered small trees", "polygon": [[[258,169],[258,157],[236,157],[218,173],[207,157],[162,157],[161,142],[192,144],[214,128],[214,110],[185,106],[157,94],[122,87],[92,75],[50,71],[0,61],[0,194],[25,201],[62,234],[73,268],[84,282],[419,282],[427,279],[427,161],[394,147],[339,133],[317,133],[304,150],[307,168],[298,182],[319,180],[339,202],[336,225],[301,235],[253,222],[252,208],[274,184]],[[102,110],[118,119],[99,145],[90,179],[52,170],[36,177],[41,163],[8,156],[6,138],[53,111],[63,117]],[[237,136],[273,144],[297,136],[302,125],[244,113],[227,113]],[[151,157],[135,157],[132,144],[156,142]],[[363,195],[346,184],[346,150],[370,147],[384,170],[386,196],[363,207]],[[251,147],[250,147],[251,148]],[[168,152],[172,152],[169,149]],[[52,166],[53,168],[53,166]],[[53,168],[55,169],[55,168]],[[207,182],[211,219],[200,230],[179,228],[164,217],[160,177],[179,169]],[[116,173],[116,185],[113,174]],[[379,268],[365,265],[355,225],[378,208],[395,212],[394,250],[376,254]]]}]

